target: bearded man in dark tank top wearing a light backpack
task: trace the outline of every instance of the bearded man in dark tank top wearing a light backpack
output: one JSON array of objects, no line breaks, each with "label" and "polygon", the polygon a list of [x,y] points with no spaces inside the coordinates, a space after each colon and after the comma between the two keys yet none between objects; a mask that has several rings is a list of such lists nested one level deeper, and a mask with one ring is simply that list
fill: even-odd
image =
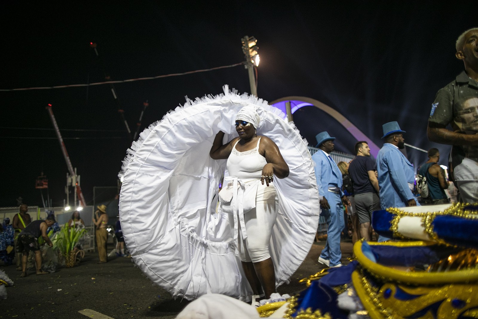
[{"label": "bearded man in dark tank top wearing a light backpack", "polygon": [[[437,148],[430,148],[428,150],[428,161],[418,170],[417,188],[420,195],[425,198],[425,204],[438,205],[450,202],[445,193],[445,189],[448,188],[448,181],[445,177],[445,170],[437,164],[439,160],[440,151]],[[423,182],[426,183],[427,190],[421,185]]]}]

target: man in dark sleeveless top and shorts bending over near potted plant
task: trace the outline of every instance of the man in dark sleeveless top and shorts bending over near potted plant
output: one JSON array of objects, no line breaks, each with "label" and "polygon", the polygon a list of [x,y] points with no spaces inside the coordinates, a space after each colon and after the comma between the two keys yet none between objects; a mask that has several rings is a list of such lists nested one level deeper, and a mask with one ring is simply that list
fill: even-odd
[{"label": "man in dark sleeveless top and shorts bending over near potted plant", "polygon": [[22,253],[22,274],[20,277],[26,277],[27,269],[27,257],[30,251],[35,253],[35,265],[36,274],[45,274],[42,270],[42,255],[40,253],[40,247],[38,245],[38,237],[42,236],[48,246],[52,247],[53,243],[46,235],[46,228],[52,226],[55,223],[53,215],[46,217],[45,220],[35,220],[25,227],[18,235],[16,252]]}]

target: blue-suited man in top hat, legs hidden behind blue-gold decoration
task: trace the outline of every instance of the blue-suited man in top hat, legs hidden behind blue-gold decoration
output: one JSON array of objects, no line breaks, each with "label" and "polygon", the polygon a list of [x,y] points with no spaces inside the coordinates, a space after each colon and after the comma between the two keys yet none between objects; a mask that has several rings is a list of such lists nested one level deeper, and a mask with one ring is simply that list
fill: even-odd
[{"label": "blue-suited man in top hat, legs hidden behind blue-gold decoration", "polygon": [[[395,121],[382,128],[385,143],[377,154],[381,209],[419,205],[411,191],[415,182],[413,165],[400,151],[405,147],[405,131]],[[379,236],[378,241],[387,239]]]}]

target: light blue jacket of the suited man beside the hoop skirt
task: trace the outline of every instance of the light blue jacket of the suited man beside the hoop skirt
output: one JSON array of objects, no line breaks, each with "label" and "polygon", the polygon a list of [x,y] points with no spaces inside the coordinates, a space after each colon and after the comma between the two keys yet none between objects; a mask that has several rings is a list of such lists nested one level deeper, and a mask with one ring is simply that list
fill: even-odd
[{"label": "light blue jacket of the suited man beside the hoop skirt", "polygon": [[342,173],[334,160],[329,160],[322,150],[318,150],[312,155],[315,162],[315,179],[317,180],[317,187],[320,196],[328,195],[328,184],[337,184],[340,189],[340,197],[342,193]]}]

